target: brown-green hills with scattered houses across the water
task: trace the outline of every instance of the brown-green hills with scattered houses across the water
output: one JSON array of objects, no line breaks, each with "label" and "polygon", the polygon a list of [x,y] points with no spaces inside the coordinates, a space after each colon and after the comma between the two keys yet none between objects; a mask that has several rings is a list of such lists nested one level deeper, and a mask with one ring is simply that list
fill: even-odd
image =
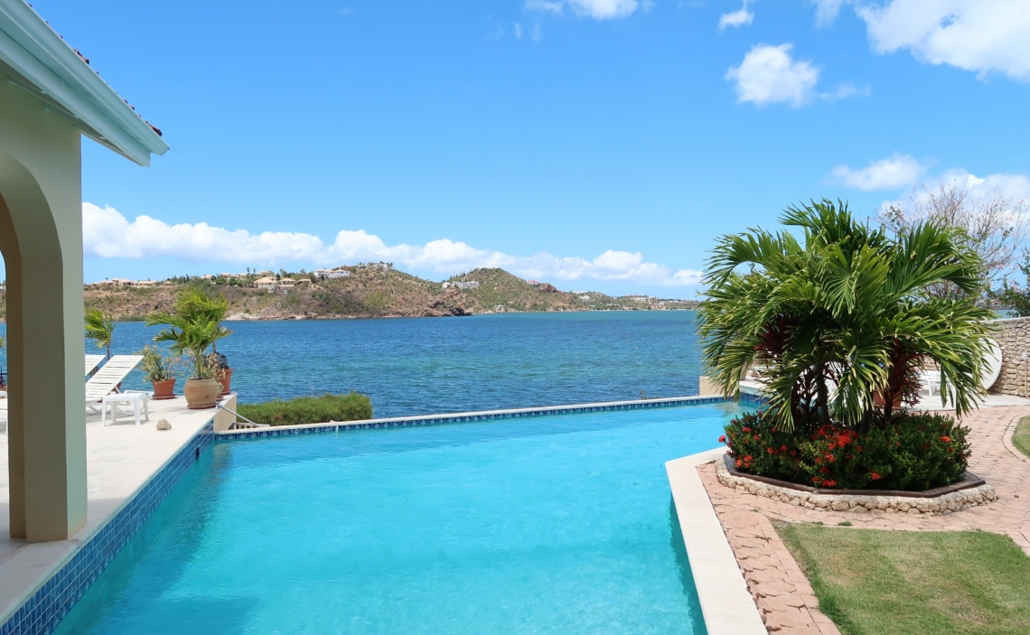
[{"label": "brown-green hills with scattered houses across the water", "polygon": [[[116,320],[140,320],[170,309],[185,285],[224,294],[234,320],[363,317],[462,316],[495,312],[693,309],[696,302],[644,296],[612,297],[597,292],[571,294],[550,284],[530,285],[501,269],[477,269],[448,282],[475,281],[479,288],[456,288],[379,267],[345,268],[350,276],[318,279],[269,293],[253,288],[256,276],[179,280],[149,288],[88,285],[87,309],[99,308]],[[288,274],[300,278],[307,274]],[[285,293],[283,293],[285,291]]]}]

